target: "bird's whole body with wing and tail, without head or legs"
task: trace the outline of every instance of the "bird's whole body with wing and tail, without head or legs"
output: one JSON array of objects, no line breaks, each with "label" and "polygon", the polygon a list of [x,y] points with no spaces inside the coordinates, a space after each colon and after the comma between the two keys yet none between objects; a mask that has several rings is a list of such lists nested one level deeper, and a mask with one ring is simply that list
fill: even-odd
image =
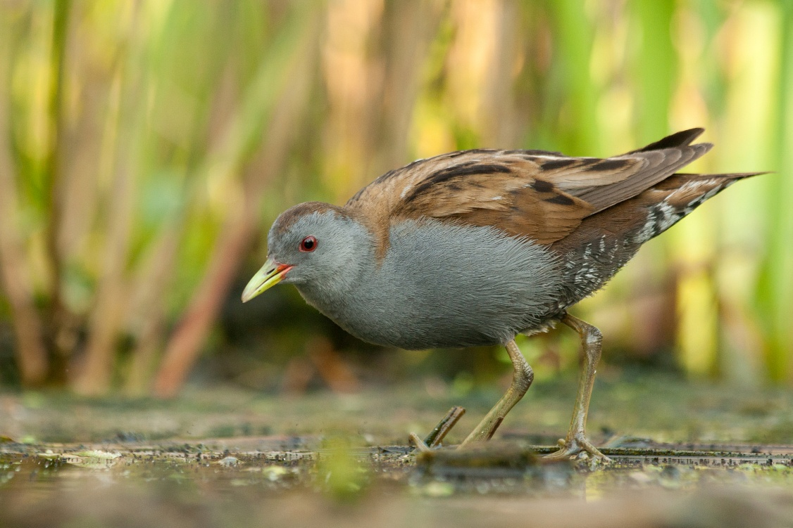
[{"label": "bird's whole body with wing and tail, without head or legs", "polygon": [[[371,276],[312,302],[364,340],[400,348],[504,343],[594,293],[650,238],[745,174],[676,171],[702,129],[614,158],[467,150],[377,178],[344,209],[374,241]],[[332,306],[331,306],[332,305]]]}]

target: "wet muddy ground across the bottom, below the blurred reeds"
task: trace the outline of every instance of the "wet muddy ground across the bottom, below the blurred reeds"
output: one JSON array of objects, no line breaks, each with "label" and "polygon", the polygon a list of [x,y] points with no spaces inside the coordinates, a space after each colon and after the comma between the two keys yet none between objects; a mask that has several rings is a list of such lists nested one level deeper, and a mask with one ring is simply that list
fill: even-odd
[{"label": "wet muddy ground across the bottom, below the blurred reeds", "polygon": [[573,380],[538,382],[486,446],[420,455],[409,431],[462,404],[457,443],[496,389],[0,393],[0,526],[793,526],[793,394],[603,378],[589,427],[609,465],[540,456]]}]

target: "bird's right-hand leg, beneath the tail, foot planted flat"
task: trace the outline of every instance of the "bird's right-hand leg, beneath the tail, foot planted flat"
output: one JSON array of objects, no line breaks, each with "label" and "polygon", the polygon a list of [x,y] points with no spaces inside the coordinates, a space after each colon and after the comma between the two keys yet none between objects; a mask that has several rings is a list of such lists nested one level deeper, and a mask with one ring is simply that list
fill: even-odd
[{"label": "bird's right-hand leg, beneath the tail, foot planted flat", "polygon": [[581,451],[586,451],[595,458],[608,461],[605,455],[600,453],[584,434],[587,424],[587,413],[589,412],[589,398],[592,396],[592,386],[595,383],[595,372],[598,361],[600,361],[600,344],[603,336],[600,330],[594,326],[573,317],[568,313],[561,318],[561,322],[568,325],[571,329],[578,332],[581,337],[581,345],[584,348],[584,370],[578,381],[578,394],[576,406],[573,408],[573,420],[570,421],[570,428],[567,438],[559,440],[559,450],[547,455],[547,458],[569,458]]}]

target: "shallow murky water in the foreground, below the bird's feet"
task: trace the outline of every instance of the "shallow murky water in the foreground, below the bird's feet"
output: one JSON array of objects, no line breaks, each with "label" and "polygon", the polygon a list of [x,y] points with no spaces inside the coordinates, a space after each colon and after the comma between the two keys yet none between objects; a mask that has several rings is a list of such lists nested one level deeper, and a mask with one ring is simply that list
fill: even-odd
[{"label": "shallow murky water in the foreground, below the bird's feet", "polygon": [[793,526],[789,453],[612,450],[610,465],[546,464],[495,443],[417,462],[403,446],[267,450],[273,441],[6,446],[0,526]]}]

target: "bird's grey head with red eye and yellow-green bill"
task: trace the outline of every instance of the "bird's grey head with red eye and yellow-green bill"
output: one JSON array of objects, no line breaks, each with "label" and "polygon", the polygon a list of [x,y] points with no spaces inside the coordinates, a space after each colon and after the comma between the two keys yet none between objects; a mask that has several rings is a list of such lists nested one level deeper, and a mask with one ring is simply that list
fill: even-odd
[{"label": "bird's grey head with red eye and yellow-green bill", "polygon": [[278,283],[343,290],[366,266],[370,236],[341,207],[300,203],[284,211],[267,234],[267,260],[243,291],[243,302]]}]

